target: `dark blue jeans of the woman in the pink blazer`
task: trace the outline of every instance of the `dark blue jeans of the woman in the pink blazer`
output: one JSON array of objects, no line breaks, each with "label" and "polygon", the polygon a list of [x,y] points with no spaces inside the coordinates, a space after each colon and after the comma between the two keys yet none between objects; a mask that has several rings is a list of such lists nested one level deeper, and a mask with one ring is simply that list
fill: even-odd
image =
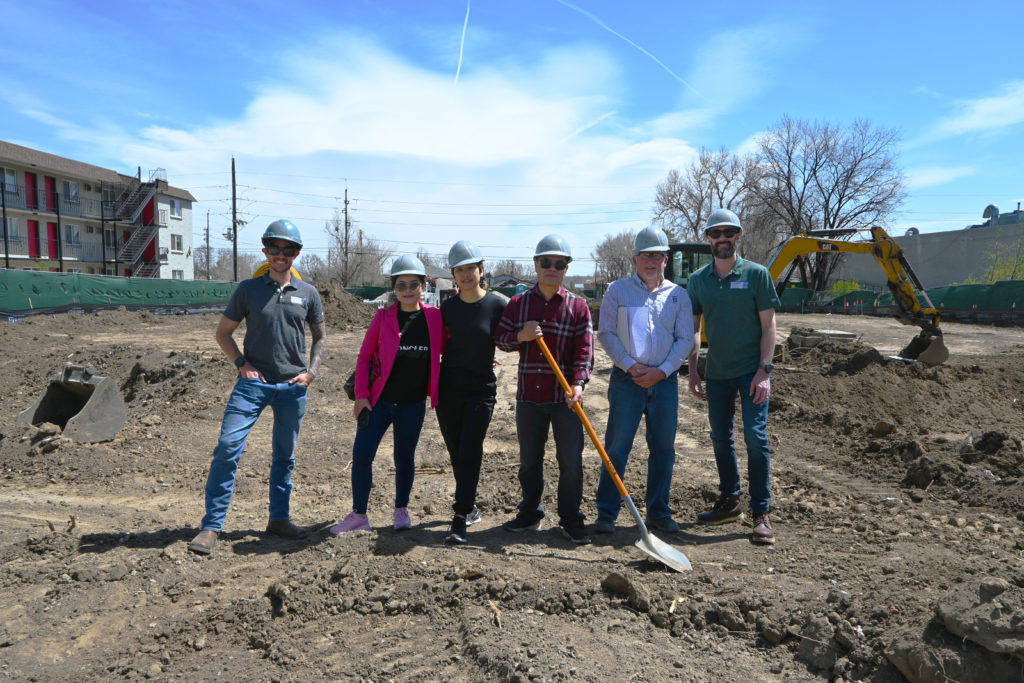
[{"label": "dark blue jeans of the woman in the pink blazer", "polygon": [[355,430],[352,444],[352,510],[367,513],[374,484],[374,458],[387,428],[394,425],[394,507],[409,505],[416,476],[416,444],[427,414],[424,401],[391,403],[378,400],[370,411],[370,423]]}]

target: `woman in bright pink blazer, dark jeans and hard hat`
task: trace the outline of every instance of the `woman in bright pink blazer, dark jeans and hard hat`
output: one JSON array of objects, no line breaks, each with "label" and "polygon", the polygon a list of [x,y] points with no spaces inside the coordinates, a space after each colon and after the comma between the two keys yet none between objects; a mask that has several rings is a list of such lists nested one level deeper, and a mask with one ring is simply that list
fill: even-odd
[{"label": "woman in bright pink blazer, dark jeans and hard hat", "polygon": [[437,407],[437,381],[444,345],[439,308],[420,301],[426,269],[415,256],[399,256],[391,264],[391,287],[397,302],[374,315],[355,365],[355,405],[358,428],[352,445],[352,511],[331,532],[370,530],[367,505],[373,484],[373,463],[381,439],[392,426],[394,436],[394,527],[413,525],[409,497],[416,472],[426,398]]}]

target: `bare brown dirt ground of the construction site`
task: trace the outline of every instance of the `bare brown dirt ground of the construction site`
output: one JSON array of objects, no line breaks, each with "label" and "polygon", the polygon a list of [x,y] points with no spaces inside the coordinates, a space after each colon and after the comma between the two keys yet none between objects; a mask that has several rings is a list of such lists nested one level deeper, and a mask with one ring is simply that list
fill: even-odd
[{"label": "bare brown dirt ground of the construction site", "polygon": [[[432,414],[414,527],[390,528],[390,440],[374,530],[336,539],[354,423],[341,385],[361,340],[343,297],[310,390],[293,518],[266,537],[269,416],[253,431],[225,533],[186,551],[234,379],[217,316],[136,312],[0,324],[0,679],[304,681],[1024,680],[1024,331],[946,326],[949,361],[891,361],[913,335],[885,318],[781,315],[769,434],[778,543],[691,520],[717,495],[703,405],[680,396],[663,536],[693,571],[621,526],[575,547],[550,525],[510,535],[518,502],[515,357],[500,354],[470,545],[450,548],[453,479]],[[792,327],[856,342],[791,349]],[[104,443],[15,421],[66,359],[116,378],[128,420]],[[586,409],[603,434],[607,357]],[[638,436],[626,484],[642,505]],[[593,519],[600,460],[586,451]],[[549,468],[548,509],[554,509]]]}]

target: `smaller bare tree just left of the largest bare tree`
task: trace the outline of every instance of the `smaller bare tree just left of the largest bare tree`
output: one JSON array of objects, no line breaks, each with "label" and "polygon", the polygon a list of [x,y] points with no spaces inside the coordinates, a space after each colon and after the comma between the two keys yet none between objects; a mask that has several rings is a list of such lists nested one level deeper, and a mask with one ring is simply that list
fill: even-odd
[{"label": "smaller bare tree just left of the largest bare tree", "polygon": [[[702,241],[703,221],[719,207],[731,209],[740,218],[758,181],[757,160],[726,150],[701,147],[697,158],[682,172],[669,171],[657,185],[654,222],[677,242]],[[745,226],[745,225],[744,225]]]}]

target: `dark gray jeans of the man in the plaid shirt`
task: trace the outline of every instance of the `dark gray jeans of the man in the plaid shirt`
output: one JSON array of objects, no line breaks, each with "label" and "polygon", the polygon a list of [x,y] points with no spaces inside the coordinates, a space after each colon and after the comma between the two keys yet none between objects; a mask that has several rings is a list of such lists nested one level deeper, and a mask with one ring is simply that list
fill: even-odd
[{"label": "dark gray jeans of the man in the plaid shirt", "polygon": [[548,428],[555,437],[558,461],[558,523],[566,528],[583,524],[583,423],[563,401],[531,403],[520,400],[515,407],[519,435],[519,485],[521,517],[539,521],[544,517],[544,446]]}]

